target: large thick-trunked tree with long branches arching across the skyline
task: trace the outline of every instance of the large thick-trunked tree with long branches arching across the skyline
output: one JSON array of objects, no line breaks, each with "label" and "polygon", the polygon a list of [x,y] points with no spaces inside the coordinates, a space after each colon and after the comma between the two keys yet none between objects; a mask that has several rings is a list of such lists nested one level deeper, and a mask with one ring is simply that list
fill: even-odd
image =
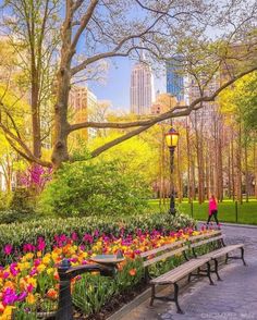
[{"label": "large thick-trunked tree with long branches arching across the skyline", "polygon": [[[26,2],[26,1],[24,1]],[[30,1],[34,2],[34,1]],[[71,133],[87,128],[133,128],[112,141],[96,148],[91,156],[96,157],[111,147],[148,130],[166,119],[188,115],[200,109],[203,102],[213,101],[217,96],[236,79],[257,69],[256,19],[255,3],[236,1],[216,4],[206,1],[82,1],[65,0],[65,12],[61,23],[60,62],[56,76],[54,104],[54,140],[51,161],[40,160],[24,150],[23,143],[15,137],[16,144],[25,151],[30,161],[56,169],[62,162],[72,161],[69,155],[68,137]],[[137,16],[133,16],[137,12]],[[220,26],[219,37],[207,38],[207,32]],[[84,41],[84,51],[79,44]],[[235,44],[247,42],[247,50],[234,52],[229,50]],[[200,96],[189,106],[175,106],[172,110],[147,120],[128,123],[84,122],[69,123],[68,100],[72,78],[97,67],[105,59],[113,57],[137,57],[138,50],[146,50],[149,60],[164,62],[176,53],[182,56],[185,73],[192,74],[199,84]],[[83,56],[84,53],[84,56]],[[217,71],[236,61],[229,76],[219,88],[210,95],[206,94],[207,84],[216,76]],[[203,77],[204,75],[204,77]],[[203,81],[204,79],[204,81]],[[136,128],[135,128],[136,127]]]}]

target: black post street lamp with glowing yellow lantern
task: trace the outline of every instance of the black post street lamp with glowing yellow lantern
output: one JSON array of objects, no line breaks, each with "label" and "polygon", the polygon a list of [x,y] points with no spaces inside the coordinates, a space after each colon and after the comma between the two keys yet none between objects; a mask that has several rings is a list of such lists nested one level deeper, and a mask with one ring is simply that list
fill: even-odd
[{"label": "black post street lamp with glowing yellow lantern", "polygon": [[173,181],[173,172],[174,172],[174,151],[178,146],[179,133],[171,127],[169,132],[166,134],[166,143],[170,149],[170,172],[171,172],[171,199],[170,199],[170,213],[175,216],[175,192],[174,192],[174,181]]}]

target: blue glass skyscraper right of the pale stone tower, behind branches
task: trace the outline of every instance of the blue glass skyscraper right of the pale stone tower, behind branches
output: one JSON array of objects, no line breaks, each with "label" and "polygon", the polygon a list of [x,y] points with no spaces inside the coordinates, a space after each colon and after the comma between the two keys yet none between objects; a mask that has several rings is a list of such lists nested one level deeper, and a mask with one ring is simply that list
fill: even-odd
[{"label": "blue glass skyscraper right of the pale stone tower, behind branches", "polygon": [[184,100],[184,77],[182,75],[183,65],[180,62],[180,56],[167,61],[167,93],[174,96],[178,101]]}]

